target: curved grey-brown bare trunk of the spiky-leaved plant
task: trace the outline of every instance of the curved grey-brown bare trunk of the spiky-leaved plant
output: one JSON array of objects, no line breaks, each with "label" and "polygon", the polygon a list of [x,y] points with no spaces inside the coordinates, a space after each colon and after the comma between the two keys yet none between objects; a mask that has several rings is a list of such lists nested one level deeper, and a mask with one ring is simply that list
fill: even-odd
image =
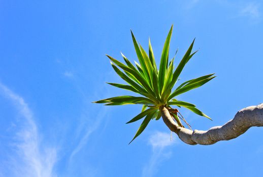
[{"label": "curved grey-brown bare trunk of the spiky-leaved plant", "polygon": [[218,141],[237,138],[251,126],[263,126],[263,103],[241,109],[234,119],[229,120],[222,126],[214,126],[206,131],[192,131],[179,127],[166,107],[161,107],[160,111],[162,120],[168,128],[174,131],[184,143],[189,145],[212,145]]}]

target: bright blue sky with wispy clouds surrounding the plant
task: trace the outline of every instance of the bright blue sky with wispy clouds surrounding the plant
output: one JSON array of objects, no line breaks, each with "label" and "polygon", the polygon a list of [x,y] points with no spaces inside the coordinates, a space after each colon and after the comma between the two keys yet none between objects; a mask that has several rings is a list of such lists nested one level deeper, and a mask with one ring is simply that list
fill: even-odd
[{"label": "bright blue sky with wispy clouds surrounding the plant", "polygon": [[175,63],[196,37],[199,52],[181,80],[217,77],[181,100],[213,118],[181,110],[193,129],[232,119],[263,101],[261,1],[0,1],[0,176],[261,176],[259,127],[211,146],[190,146],[160,119],[133,143],[140,106],[92,104],[126,95],[105,54],[137,60],[133,30],[151,37],[159,62],[174,24]]}]

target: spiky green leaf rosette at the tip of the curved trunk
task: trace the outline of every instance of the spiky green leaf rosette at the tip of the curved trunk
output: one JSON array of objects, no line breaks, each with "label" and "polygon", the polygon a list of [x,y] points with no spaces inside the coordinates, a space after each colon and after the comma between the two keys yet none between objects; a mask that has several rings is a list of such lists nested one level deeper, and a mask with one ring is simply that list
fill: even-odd
[{"label": "spiky green leaf rosette at the tip of the curved trunk", "polygon": [[[142,133],[142,131],[148,125],[150,120],[152,119],[158,120],[161,117],[161,113],[159,110],[161,106],[166,106],[167,108],[171,108],[171,105],[184,107],[198,115],[211,119],[206,114],[204,114],[199,109],[197,109],[195,105],[184,101],[178,101],[175,99],[175,97],[178,95],[181,95],[185,92],[188,92],[190,90],[202,86],[203,84],[213,79],[215,76],[213,73],[198,78],[194,78],[191,80],[187,80],[182,84],[180,84],[179,86],[177,86],[176,89],[173,89],[176,82],[179,79],[179,75],[182,72],[184,66],[197,51],[192,52],[192,48],[194,44],[194,40],[193,40],[188,50],[184,54],[183,58],[181,59],[180,63],[178,64],[177,67],[175,67],[174,64],[175,57],[173,57],[169,61],[169,49],[170,49],[170,40],[172,36],[172,31],[173,31],[173,26],[171,27],[168,36],[166,38],[165,45],[163,46],[163,50],[160,58],[159,70],[157,70],[150,39],[149,39],[149,50],[147,54],[146,51],[142,48],[142,46],[138,44],[132,31],[131,31],[131,36],[133,38],[133,43],[139,63],[135,62],[135,65],[132,64],[130,60],[128,60],[122,53],[121,56],[125,64],[107,55],[107,57],[111,61],[111,65],[115,70],[115,72],[124,81],[126,81],[127,84],[110,83],[110,82],[107,83],[115,87],[118,87],[120,89],[125,89],[140,94],[141,96],[140,97],[135,97],[135,96],[112,97],[112,98],[96,101],[94,103],[104,103],[105,105],[141,104],[142,112],[127,122],[127,123],[131,123],[144,118],[133,140]],[[175,118],[175,121],[178,123],[178,125],[183,126],[177,114],[175,114],[172,111],[173,109],[169,109],[169,110],[171,110],[170,114]],[[131,140],[131,142],[133,140]]]}]

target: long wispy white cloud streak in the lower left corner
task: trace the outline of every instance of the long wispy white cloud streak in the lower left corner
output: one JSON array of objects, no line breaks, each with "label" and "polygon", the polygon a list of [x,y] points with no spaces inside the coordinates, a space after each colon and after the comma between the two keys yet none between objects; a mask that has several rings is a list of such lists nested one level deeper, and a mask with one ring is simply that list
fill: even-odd
[{"label": "long wispy white cloud streak in the lower left corner", "polygon": [[11,100],[24,118],[19,120],[22,125],[21,129],[17,129],[14,142],[12,142],[14,153],[8,154],[9,162],[4,164],[3,170],[12,169],[12,176],[56,176],[54,173],[56,149],[44,147],[41,144],[34,114],[24,99],[2,83],[0,83],[0,94]]}]

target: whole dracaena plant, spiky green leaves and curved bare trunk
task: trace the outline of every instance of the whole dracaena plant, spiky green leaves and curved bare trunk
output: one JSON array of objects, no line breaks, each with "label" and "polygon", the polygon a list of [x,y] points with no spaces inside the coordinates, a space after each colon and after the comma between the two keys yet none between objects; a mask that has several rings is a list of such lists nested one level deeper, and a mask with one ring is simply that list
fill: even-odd
[{"label": "whole dracaena plant, spiky green leaves and curved bare trunk", "polygon": [[[135,62],[136,66],[123,54],[121,55],[126,64],[107,55],[111,60],[113,69],[127,84],[107,83],[141,96],[118,96],[95,101],[94,103],[104,103],[105,105],[142,105],[142,111],[127,122],[131,123],[144,118],[131,142],[143,132],[151,120],[159,120],[160,117],[162,117],[163,122],[165,122],[171,131],[174,131],[183,142],[190,145],[210,145],[221,140],[230,140],[240,136],[251,126],[263,126],[263,104],[261,104],[240,110],[233,120],[228,121],[223,126],[212,127],[207,131],[191,130],[191,126],[179,111],[181,107],[208,119],[211,118],[196,108],[194,104],[177,100],[176,96],[202,86],[215,76],[214,73],[204,75],[187,80],[176,86],[184,66],[197,51],[192,52],[193,40],[180,63],[175,67],[175,57],[169,61],[172,31],[173,26],[163,46],[159,69],[155,63],[150,39],[149,53],[147,54],[142,46],[138,45],[133,32],[131,32],[131,36],[139,60],[139,63]],[[177,106],[177,108],[173,108],[174,106]],[[185,128],[184,124],[187,125],[189,129]]]}]

